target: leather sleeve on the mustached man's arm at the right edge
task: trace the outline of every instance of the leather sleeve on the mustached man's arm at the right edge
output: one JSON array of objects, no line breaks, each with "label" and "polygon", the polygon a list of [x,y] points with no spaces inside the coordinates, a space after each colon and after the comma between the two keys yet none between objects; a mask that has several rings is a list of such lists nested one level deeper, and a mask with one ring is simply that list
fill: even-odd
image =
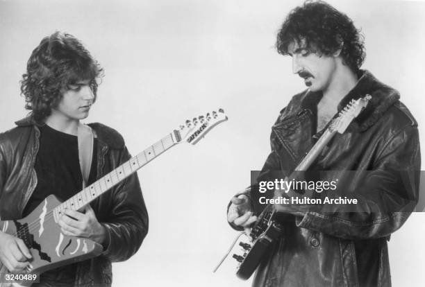
[{"label": "leather sleeve on the mustached man's arm at the right edge", "polygon": [[[409,125],[388,139],[372,171],[355,188],[355,207],[324,205],[306,212],[292,211],[299,227],[347,239],[389,236],[405,223],[419,198],[420,150],[415,125]],[[338,196],[334,195],[334,196]],[[285,211],[283,205],[276,205]]]}]

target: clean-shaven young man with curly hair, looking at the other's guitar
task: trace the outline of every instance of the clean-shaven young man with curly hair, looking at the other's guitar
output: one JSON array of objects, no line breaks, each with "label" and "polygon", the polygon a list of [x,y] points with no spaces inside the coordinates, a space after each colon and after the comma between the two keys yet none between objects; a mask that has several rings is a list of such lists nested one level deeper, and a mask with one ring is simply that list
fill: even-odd
[{"label": "clean-shaven young man with curly hair, looking at the other's guitar", "polygon": [[[80,123],[96,100],[102,76],[99,63],[72,35],[53,33],[34,49],[21,87],[31,112],[0,134],[1,220],[27,216],[51,194],[67,200],[130,158],[117,131]],[[85,146],[78,139],[82,131],[91,139]],[[82,154],[91,161],[81,159]],[[81,162],[87,162],[85,170]],[[148,230],[137,174],[81,211],[66,209],[58,224],[65,236],[90,238],[103,252],[48,270],[33,286],[110,286],[111,262],[132,256]],[[57,238],[51,240],[56,245]],[[10,272],[24,270],[32,259],[22,238],[0,232],[0,261]]]}]

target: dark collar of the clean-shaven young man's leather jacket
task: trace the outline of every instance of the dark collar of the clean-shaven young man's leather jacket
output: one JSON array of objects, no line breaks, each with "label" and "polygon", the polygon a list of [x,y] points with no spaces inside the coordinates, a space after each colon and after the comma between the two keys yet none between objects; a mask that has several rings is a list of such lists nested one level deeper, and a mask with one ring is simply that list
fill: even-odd
[{"label": "dark collar of the clean-shaven young man's leather jacket", "polygon": [[[37,126],[39,128],[45,125],[45,123],[38,123],[35,121],[31,114],[24,119],[15,121],[15,124],[18,127]],[[106,146],[116,149],[124,148],[124,139],[122,135],[113,128],[109,128],[101,123],[89,123],[88,125],[93,129],[97,139],[105,143]]]}]

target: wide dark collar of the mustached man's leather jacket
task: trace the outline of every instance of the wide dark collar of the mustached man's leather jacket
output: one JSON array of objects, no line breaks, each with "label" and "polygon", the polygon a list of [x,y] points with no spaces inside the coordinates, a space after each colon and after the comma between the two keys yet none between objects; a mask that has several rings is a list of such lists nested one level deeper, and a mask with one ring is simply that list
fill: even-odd
[{"label": "wide dark collar of the mustached man's leather jacket", "polygon": [[[358,128],[363,131],[374,125],[388,108],[399,101],[400,95],[397,90],[383,84],[367,70],[360,70],[358,76],[359,79],[356,86],[338,104],[338,112],[344,109],[351,100],[363,98],[367,94],[371,95],[372,99],[367,104],[367,107],[355,120]],[[306,95],[301,100],[301,108],[316,111],[317,104],[322,99],[322,96],[322,92],[306,92]]]}]

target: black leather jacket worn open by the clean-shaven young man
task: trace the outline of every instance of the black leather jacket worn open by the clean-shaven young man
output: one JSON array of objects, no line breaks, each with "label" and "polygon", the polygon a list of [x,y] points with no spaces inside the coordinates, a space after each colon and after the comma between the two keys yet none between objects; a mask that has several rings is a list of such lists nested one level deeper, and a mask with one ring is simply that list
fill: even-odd
[{"label": "black leather jacket worn open by the clean-shaven young man", "polygon": [[[34,171],[40,130],[31,117],[17,128],[0,134],[0,218],[22,218],[24,207],[37,185]],[[97,178],[131,156],[122,136],[100,123],[90,127],[98,139]],[[124,261],[138,251],[148,231],[148,215],[136,173],[92,202],[97,219],[108,233],[108,248],[94,259],[78,263],[75,286],[110,286],[111,262]]]}]

